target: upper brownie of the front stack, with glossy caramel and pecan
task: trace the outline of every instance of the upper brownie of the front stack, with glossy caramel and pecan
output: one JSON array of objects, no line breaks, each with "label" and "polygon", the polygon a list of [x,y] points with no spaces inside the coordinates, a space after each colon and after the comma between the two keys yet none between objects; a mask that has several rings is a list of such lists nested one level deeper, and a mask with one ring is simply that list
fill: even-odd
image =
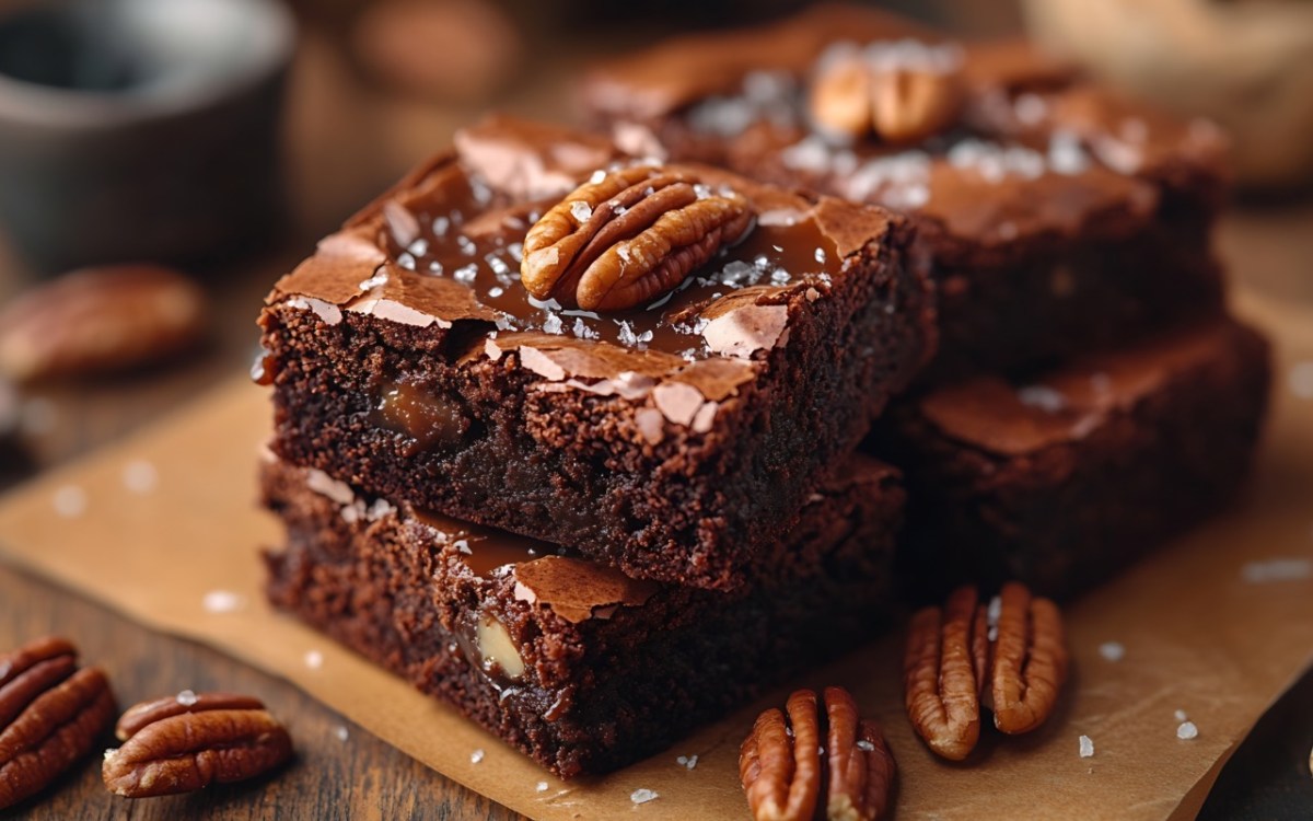
[{"label": "upper brownie of the front stack, with glossy caramel and pecan", "polygon": [[[492,120],[274,286],[273,449],[635,578],[735,588],[930,356],[910,242],[878,208]],[[562,265],[575,251],[597,263]]]}]

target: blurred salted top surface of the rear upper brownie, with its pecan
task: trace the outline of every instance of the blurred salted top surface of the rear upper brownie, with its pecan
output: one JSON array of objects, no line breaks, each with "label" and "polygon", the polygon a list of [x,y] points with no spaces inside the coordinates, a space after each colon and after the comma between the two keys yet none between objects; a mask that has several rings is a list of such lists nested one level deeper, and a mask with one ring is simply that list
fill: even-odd
[{"label": "blurred salted top surface of the rear upper brownie, with its pecan", "polygon": [[1024,42],[958,43],[856,7],[658,45],[599,67],[584,101],[629,150],[656,150],[647,126],[674,118],[738,168],[777,163],[985,244],[1142,222],[1150,180],[1211,192],[1225,147],[1211,123],[1119,100]]}]

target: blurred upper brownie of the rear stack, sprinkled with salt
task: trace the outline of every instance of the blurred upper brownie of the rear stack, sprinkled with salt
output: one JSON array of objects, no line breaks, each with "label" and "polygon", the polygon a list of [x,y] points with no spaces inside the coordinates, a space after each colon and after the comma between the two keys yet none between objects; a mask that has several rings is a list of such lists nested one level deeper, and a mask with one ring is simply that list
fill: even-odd
[{"label": "blurred upper brownie of the rear stack, sprinkled with salt", "polygon": [[[840,60],[939,78],[960,99],[928,135],[839,137],[809,95]],[[599,66],[582,99],[630,151],[907,214],[939,284],[924,381],[1057,364],[1221,310],[1218,130],[1120,100],[1023,42],[957,43],[825,5]]]}]

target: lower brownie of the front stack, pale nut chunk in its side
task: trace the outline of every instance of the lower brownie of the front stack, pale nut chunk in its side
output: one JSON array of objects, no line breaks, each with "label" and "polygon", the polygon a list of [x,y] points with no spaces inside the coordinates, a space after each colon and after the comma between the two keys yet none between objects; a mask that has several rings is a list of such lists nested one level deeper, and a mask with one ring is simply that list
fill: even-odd
[{"label": "lower brownie of the front stack, pale nut chunk in its side", "polygon": [[554,545],[360,495],[270,458],[286,525],[268,595],[561,776],[656,753],[888,621],[903,493],[852,457],[725,594],[629,578]]}]

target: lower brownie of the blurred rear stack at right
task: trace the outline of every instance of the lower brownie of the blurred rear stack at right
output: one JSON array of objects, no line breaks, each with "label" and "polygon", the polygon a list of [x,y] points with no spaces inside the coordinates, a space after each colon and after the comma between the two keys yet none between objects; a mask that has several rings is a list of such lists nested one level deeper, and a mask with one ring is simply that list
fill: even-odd
[{"label": "lower brownie of the blurred rear stack at right", "polygon": [[907,474],[902,570],[927,595],[965,579],[1052,596],[1098,585],[1232,500],[1268,380],[1264,339],[1217,319],[892,409],[868,444]]}]

